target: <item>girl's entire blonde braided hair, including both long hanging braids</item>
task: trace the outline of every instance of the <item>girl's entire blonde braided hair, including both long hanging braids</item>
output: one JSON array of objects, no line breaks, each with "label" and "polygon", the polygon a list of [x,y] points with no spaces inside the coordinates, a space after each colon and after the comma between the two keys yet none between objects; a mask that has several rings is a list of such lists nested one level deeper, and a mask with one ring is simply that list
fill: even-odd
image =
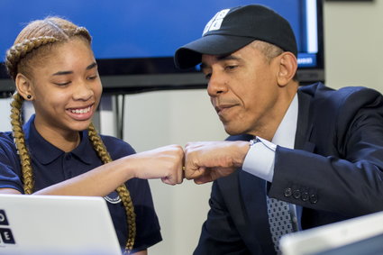
[{"label": "girl's entire blonde braided hair, including both long hanging braids", "polygon": [[[19,33],[14,46],[6,52],[5,66],[8,74],[14,80],[18,73],[22,73],[27,77],[32,77],[32,63],[41,57],[43,54],[50,52],[52,47],[60,42],[69,41],[77,37],[87,41],[90,45],[92,38],[84,27],[78,27],[74,23],[59,17],[48,17],[44,20],[37,20],[29,23],[22,32]],[[31,157],[28,149],[25,146],[22,122],[22,106],[24,98],[17,91],[14,93],[11,102],[11,124],[14,135],[14,143],[21,160],[22,165],[22,180],[25,194],[33,192],[33,171]],[[88,127],[88,137],[91,141],[94,150],[104,164],[111,162],[108,151],[105,148],[104,142],[97,134],[94,125],[91,123]],[[127,223],[128,223],[128,240],[126,242],[125,251],[130,252],[133,248],[136,235],[135,214],[132,205],[132,198],[127,187],[122,184],[116,188],[119,196],[125,207]]]}]

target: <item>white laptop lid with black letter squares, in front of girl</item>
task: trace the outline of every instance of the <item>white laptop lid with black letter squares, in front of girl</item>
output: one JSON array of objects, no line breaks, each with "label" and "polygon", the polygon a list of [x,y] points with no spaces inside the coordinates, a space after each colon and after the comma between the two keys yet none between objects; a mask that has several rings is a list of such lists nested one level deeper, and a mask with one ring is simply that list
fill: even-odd
[{"label": "white laptop lid with black letter squares, in front of girl", "polygon": [[0,254],[121,255],[105,199],[0,195]]}]

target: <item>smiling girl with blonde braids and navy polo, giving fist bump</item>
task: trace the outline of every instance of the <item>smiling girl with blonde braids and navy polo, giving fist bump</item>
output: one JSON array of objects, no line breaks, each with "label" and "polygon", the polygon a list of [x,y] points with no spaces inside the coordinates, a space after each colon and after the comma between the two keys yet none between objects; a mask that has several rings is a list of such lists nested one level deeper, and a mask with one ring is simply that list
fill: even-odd
[{"label": "smiling girl with blonde braids and navy polo, giving fist bump", "polygon": [[[181,183],[182,148],[135,153],[97,134],[102,85],[84,27],[57,17],[29,23],[5,63],[16,92],[13,132],[0,132],[0,194],[104,196],[122,247],[146,254],[161,240],[146,179]],[[23,125],[24,100],[35,114]]]}]

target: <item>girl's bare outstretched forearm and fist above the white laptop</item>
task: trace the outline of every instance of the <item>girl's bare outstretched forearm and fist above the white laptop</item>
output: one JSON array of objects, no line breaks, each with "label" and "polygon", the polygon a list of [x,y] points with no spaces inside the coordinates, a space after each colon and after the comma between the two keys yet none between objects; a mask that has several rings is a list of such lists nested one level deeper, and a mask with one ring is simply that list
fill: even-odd
[{"label": "girl's bare outstretched forearm and fist above the white laptop", "polygon": [[106,196],[131,178],[161,178],[162,182],[175,185],[183,180],[183,158],[184,150],[179,145],[143,151],[116,159],[78,177],[43,188],[35,194]]}]

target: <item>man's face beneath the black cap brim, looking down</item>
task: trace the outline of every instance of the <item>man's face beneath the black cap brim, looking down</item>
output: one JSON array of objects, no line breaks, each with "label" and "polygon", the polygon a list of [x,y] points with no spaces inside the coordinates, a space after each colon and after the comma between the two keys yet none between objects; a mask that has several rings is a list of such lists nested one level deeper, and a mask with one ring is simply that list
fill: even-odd
[{"label": "man's face beneath the black cap brim, looking down", "polygon": [[278,118],[278,57],[247,45],[228,56],[203,55],[207,92],[229,134],[262,135]]}]

